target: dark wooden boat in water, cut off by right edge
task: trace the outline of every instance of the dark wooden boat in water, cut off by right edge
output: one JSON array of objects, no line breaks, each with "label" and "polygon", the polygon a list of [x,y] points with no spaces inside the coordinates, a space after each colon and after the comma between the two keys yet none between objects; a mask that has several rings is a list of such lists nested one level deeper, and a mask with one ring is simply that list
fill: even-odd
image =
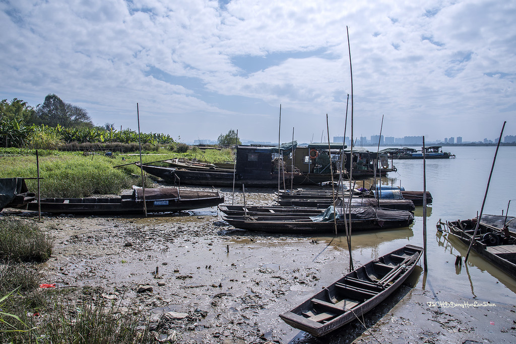
[{"label": "dark wooden boat in water, cut off by right edge", "polygon": [[[437,223],[438,231],[446,232],[469,246],[477,219]],[[487,261],[516,278],[516,234],[480,222],[472,249]]]}]

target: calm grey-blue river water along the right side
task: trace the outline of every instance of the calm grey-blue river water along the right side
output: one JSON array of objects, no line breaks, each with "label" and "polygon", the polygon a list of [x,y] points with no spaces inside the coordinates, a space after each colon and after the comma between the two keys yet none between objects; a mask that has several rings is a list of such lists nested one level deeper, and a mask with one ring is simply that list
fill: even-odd
[{"label": "calm grey-blue river water along the right side", "polygon": [[[439,219],[476,217],[486,192],[496,147],[443,147],[456,159],[426,161],[426,188],[433,203],[427,208],[428,273],[416,287],[444,290],[463,298],[512,304],[516,283],[503,271],[475,252],[466,268],[455,267],[456,255],[465,256],[467,247],[449,242],[436,230]],[[405,190],[423,190],[423,161],[394,160],[397,172],[382,178],[382,184],[402,185]],[[516,147],[500,147],[491,178],[483,214],[505,214],[507,203],[516,198]],[[366,183],[367,184],[367,183]],[[516,216],[516,201],[509,215]],[[423,211],[417,207],[414,223],[408,229],[357,234],[352,236],[353,259],[361,264],[406,244],[423,246]],[[329,237],[320,239],[331,240]],[[346,246],[345,237],[334,238],[333,245]]]}]

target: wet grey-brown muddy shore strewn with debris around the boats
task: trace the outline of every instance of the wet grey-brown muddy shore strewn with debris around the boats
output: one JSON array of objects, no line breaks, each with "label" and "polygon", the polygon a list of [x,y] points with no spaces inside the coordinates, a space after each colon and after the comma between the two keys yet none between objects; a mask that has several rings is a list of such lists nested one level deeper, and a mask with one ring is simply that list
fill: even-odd
[{"label": "wet grey-brown muddy shore strewn with debris around the boats", "polygon": [[[248,204],[271,203],[272,192],[250,191]],[[231,204],[231,191],[222,193]],[[243,203],[240,194],[235,203]],[[33,212],[3,214],[37,219]],[[335,245],[338,240],[236,230],[215,208],[148,218],[43,214],[42,220],[42,228],[54,237],[43,282],[101,288],[102,297],[146,315],[162,340],[175,336],[184,343],[516,341],[514,305],[486,305],[493,300],[433,290],[421,269],[411,276],[414,288],[402,287],[336,334],[314,338],[292,329],[278,314],[345,273],[347,249]],[[359,255],[356,260],[357,266],[369,259]],[[152,286],[152,292],[138,293],[140,286]]]}]

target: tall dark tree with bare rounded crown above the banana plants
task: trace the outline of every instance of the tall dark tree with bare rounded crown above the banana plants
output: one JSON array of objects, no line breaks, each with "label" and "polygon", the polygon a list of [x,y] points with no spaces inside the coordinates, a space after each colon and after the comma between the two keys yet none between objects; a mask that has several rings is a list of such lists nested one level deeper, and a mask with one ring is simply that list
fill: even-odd
[{"label": "tall dark tree with bare rounded crown above the banana plants", "polygon": [[93,127],[93,122],[86,110],[62,101],[55,94],[47,95],[43,105],[38,105],[36,124],[50,127],[60,125],[65,128]]}]

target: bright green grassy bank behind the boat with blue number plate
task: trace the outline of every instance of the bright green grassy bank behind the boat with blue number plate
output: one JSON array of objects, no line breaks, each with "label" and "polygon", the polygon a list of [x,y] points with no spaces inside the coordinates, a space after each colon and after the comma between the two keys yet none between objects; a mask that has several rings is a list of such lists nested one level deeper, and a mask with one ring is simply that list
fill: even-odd
[{"label": "bright green grassy bank behind the boat with blue number plate", "polygon": [[[0,157],[0,178],[37,177],[36,155],[34,150],[3,150]],[[142,162],[149,163],[195,153],[175,153],[161,149],[157,153],[143,154]],[[232,159],[230,150],[207,149],[197,151],[198,159],[223,162]],[[99,194],[119,194],[122,189],[132,185],[141,186],[141,172],[135,165],[114,168],[117,165],[139,161],[137,153],[117,154],[111,157],[104,154],[86,155],[77,152],[41,151],[39,169],[42,197],[88,197]],[[149,176],[153,178],[152,176]],[[29,191],[37,191],[37,181],[27,180]],[[151,185],[151,180],[146,182]]]}]

